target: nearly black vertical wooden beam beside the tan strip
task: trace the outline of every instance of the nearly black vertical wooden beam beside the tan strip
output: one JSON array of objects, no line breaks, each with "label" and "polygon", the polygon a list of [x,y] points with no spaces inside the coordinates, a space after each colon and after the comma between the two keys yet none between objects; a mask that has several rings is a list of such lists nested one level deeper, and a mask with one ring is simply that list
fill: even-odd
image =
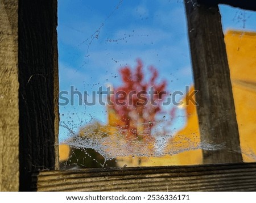
[{"label": "nearly black vertical wooden beam beside the tan strip", "polygon": [[30,191],[30,172],[57,163],[56,2],[19,1],[20,191]]}]

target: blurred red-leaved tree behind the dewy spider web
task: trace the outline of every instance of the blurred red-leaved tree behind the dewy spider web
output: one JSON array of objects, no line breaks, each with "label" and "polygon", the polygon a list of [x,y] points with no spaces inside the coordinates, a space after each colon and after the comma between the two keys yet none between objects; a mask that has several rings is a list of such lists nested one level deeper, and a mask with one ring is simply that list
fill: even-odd
[{"label": "blurred red-leaved tree behind the dewy spider web", "polygon": [[[167,96],[167,82],[158,79],[155,67],[149,67],[149,78],[143,73],[143,64],[137,60],[135,69],[130,66],[122,67],[119,73],[122,85],[114,88],[111,100],[119,126],[128,140],[150,140],[152,127],[156,124],[156,116],[162,111],[162,104]],[[152,88],[154,87],[154,92]],[[151,91],[150,91],[151,90]],[[151,94],[148,94],[150,92]],[[132,96],[131,96],[132,95]]]}]

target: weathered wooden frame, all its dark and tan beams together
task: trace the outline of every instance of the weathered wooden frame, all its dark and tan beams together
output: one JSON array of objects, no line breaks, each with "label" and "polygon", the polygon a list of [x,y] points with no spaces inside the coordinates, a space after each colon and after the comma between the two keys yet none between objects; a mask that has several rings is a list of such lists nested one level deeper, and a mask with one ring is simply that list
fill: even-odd
[{"label": "weathered wooden frame, all its dark and tan beams together", "polygon": [[15,88],[0,83],[6,96],[14,95],[0,106],[14,111],[0,117],[0,191],[255,191],[256,163],[242,163],[235,147],[239,133],[218,3],[254,11],[256,3],[184,3],[201,139],[237,152],[204,150],[199,166],[59,171],[57,1],[2,1],[0,60],[10,62],[1,64],[0,75]]}]

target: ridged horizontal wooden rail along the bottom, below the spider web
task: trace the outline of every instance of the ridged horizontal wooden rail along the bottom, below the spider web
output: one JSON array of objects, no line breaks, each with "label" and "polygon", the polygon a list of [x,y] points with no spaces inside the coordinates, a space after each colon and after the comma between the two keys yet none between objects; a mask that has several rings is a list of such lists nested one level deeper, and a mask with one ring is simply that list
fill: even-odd
[{"label": "ridged horizontal wooden rail along the bottom, below the spider web", "polygon": [[256,163],[41,171],[34,191],[256,191]]}]

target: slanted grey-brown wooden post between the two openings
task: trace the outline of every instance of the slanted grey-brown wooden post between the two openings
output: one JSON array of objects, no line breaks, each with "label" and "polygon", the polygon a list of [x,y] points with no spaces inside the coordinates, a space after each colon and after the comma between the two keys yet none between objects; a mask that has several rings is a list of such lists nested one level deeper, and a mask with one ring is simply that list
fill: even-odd
[{"label": "slanted grey-brown wooden post between the two openings", "polygon": [[185,0],[204,163],[242,162],[228,58],[218,6]]}]

